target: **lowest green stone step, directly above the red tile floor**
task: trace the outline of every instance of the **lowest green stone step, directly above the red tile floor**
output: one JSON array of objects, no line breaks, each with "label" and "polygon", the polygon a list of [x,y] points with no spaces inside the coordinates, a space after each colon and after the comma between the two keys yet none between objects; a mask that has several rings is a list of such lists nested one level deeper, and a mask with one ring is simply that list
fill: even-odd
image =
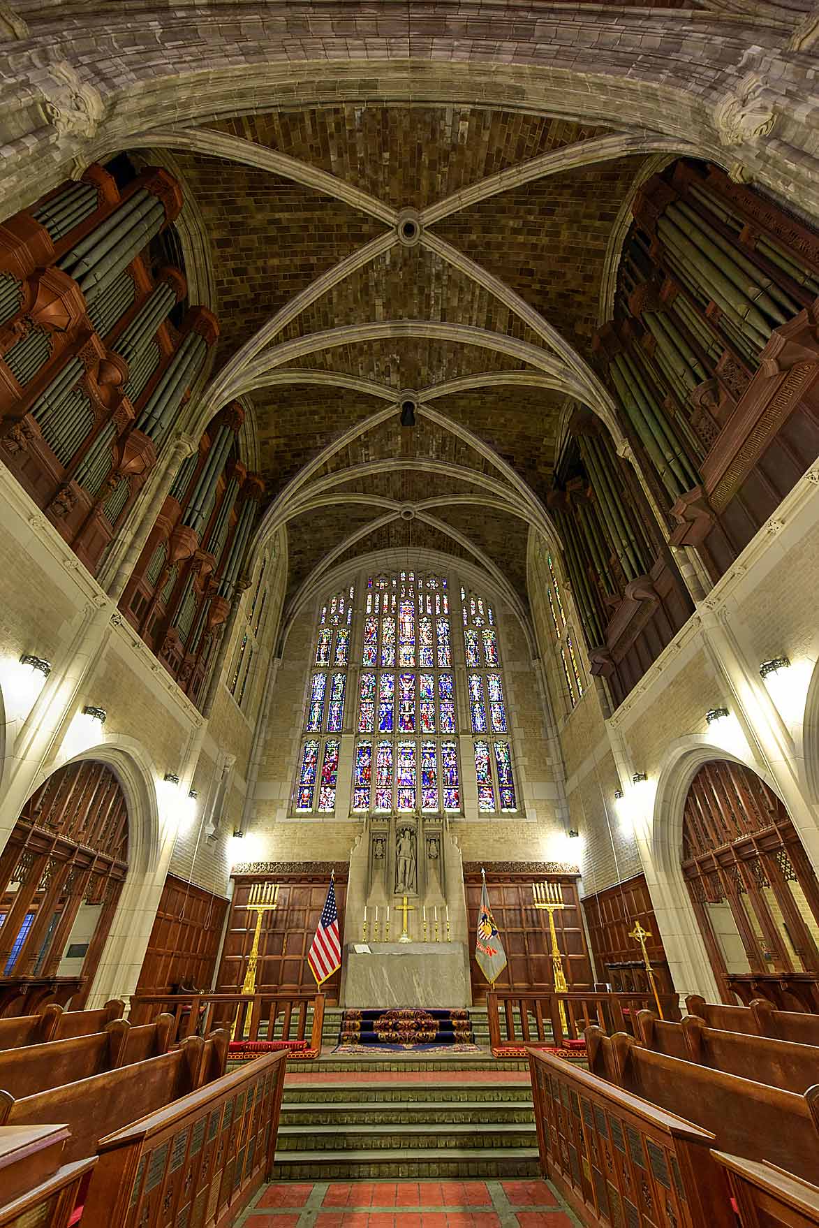
[{"label": "lowest green stone step, directly above the red tile floor", "polygon": [[540,1175],[538,1148],[432,1147],[359,1152],[276,1152],[274,1180],[388,1180],[390,1178],[511,1178]]}]

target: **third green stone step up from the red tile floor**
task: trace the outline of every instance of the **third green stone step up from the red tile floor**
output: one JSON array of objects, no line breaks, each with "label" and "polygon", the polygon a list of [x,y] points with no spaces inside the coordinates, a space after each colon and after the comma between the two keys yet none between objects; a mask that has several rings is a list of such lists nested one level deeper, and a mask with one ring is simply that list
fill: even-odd
[{"label": "third green stone step up from the red tile floor", "polygon": [[406,1102],[356,1103],[354,1100],[333,1100],[325,1104],[282,1104],[282,1126],[390,1126],[419,1125],[476,1125],[490,1122],[503,1125],[532,1125],[534,1110],[532,1104],[519,1102],[485,1100],[422,1100],[415,1104]]}]

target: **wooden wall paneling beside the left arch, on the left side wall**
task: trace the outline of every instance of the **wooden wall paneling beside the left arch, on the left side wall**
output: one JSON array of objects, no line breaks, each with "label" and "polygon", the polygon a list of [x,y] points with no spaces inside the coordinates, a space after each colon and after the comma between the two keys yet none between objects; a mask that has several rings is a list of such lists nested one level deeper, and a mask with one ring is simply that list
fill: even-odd
[{"label": "wooden wall paneling beside the left arch, on the left side wall", "polygon": [[184,982],[209,990],[227,900],[168,874],[142,962],[138,993],[169,993]]}]

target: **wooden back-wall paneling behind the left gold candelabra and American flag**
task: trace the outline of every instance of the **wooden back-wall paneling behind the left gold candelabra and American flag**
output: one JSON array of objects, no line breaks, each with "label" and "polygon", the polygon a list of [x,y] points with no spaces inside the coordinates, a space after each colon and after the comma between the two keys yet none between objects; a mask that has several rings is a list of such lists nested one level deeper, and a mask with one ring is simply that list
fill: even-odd
[{"label": "wooden back-wall paneling behind the left gold candelabra and American flag", "polygon": [[[344,933],[344,903],[346,898],[346,863],[335,867],[335,901],[339,911],[339,932]],[[217,990],[241,990],[253,944],[255,910],[247,901],[253,883],[270,882],[279,887],[278,907],[263,914],[257,965],[257,992],[311,993],[316,980],[307,964],[307,952],[324,907],[329,887],[329,869],[317,867],[285,873],[236,876],[231,919],[225,936],[225,949],[219,970]],[[330,976],[322,986],[328,1005],[339,1001],[340,974]]]}]

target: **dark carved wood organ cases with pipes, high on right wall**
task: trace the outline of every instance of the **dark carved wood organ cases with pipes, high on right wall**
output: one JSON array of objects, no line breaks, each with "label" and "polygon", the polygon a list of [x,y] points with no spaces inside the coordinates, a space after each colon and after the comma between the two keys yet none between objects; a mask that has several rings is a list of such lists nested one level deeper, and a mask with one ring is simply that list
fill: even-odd
[{"label": "dark carved wood organ cases with pipes, high on right wall", "polygon": [[[640,190],[596,361],[672,546],[717,580],[819,452],[819,235],[716,167]],[[578,411],[550,503],[620,702],[691,610],[634,469]]]}]

